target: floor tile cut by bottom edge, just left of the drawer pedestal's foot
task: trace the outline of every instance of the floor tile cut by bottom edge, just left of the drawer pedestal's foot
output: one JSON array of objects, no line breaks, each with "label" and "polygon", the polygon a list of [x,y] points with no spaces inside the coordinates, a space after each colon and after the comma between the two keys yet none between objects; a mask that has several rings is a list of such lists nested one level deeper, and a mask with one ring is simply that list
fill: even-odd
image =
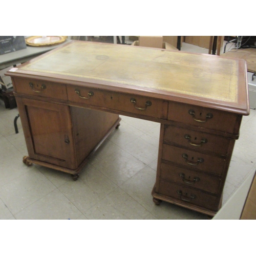
[{"label": "floor tile cut by bottom edge, just left of the drawer pedestal's foot", "polygon": [[84,213],[88,219],[97,220],[154,220],[144,207],[127,195],[121,188],[100,200]]}]

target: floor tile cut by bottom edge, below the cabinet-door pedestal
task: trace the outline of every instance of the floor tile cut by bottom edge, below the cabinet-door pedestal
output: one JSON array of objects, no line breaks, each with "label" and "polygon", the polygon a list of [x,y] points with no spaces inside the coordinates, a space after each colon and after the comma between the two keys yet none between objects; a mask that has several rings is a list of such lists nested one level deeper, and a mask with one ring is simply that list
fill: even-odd
[{"label": "floor tile cut by bottom edge, below the cabinet-door pedestal", "polygon": [[14,215],[17,220],[68,220],[81,212],[57,188]]}]

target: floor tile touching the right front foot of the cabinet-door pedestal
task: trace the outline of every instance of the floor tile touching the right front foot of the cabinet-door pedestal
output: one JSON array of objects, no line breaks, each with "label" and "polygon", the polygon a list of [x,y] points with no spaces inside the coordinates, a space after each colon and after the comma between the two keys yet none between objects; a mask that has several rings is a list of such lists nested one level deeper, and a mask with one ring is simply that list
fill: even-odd
[{"label": "floor tile touching the right front foot of the cabinet-door pedestal", "polygon": [[110,194],[117,185],[91,165],[86,165],[77,181],[70,180],[59,190],[82,212]]}]

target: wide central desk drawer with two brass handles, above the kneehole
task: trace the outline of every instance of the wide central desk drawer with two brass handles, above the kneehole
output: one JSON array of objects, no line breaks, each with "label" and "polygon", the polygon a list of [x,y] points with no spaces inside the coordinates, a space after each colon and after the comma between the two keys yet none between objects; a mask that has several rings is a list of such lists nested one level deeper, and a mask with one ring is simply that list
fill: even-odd
[{"label": "wide central desk drawer with two brass handles, above the kneehole", "polygon": [[[104,109],[167,119],[167,102],[133,94],[67,86],[69,101]],[[121,114],[121,113],[120,113]]]}]

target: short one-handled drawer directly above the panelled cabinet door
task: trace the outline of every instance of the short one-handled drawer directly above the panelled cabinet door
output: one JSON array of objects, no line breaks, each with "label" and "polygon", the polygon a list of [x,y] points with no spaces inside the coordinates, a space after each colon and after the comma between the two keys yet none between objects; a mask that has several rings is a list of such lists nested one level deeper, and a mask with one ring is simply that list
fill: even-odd
[{"label": "short one-handled drawer directly above the panelled cabinet door", "polygon": [[14,82],[17,93],[68,100],[65,84],[16,77]]}]

